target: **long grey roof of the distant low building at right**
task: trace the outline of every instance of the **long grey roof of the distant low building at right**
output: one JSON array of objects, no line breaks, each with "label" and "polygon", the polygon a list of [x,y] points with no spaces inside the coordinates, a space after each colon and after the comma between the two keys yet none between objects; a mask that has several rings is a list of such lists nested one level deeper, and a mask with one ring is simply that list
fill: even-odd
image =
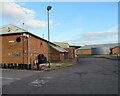
[{"label": "long grey roof of the distant low building at right", "polygon": [[91,49],[91,48],[98,48],[98,47],[108,47],[108,48],[113,48],[113,47],[116,47],[118,46],[118,43],[113,43],[113,44],[96,44],[96,45],[85,45],[85,46],[82,46],[81,48],[79,49]]}]

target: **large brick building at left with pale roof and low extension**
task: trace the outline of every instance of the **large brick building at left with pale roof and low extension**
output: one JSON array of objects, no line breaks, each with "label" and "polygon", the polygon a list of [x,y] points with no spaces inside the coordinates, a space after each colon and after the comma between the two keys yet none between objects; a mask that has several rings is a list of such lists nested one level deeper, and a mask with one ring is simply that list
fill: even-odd
[{"label": "large brick building at left with pale roof and low extension", "polygon": [[[1,64],[32,64],[38,61],[38,55],[48,58],[48,41],[14,25],[0,28]],[[50,61],[67,59],[67,51],[49,42]]]}]

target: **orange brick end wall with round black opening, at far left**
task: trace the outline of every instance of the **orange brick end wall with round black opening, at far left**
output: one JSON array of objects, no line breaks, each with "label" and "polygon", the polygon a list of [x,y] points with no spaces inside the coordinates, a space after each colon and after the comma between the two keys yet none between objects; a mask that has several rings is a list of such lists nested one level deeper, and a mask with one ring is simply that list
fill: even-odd
[{"label": "orange brick end wall with round black opening, at far left", "polygon": [[[16,42],[20,37],[21,42]],[[23,38],[20,35],[2,36],[2,63],[23,63]],[[16,53],[19,53],[17,56]]]}]

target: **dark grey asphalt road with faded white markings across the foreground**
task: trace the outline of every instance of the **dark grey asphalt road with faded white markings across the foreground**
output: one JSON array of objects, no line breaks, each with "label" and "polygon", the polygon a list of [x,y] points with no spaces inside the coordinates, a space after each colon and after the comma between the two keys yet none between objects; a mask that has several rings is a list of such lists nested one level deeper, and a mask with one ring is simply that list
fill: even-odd
[{"label": "dark grey asphalt road with faded white markings across the foreground", "polygon": [[54,71],[3,70],[2,94],[118,94],[118,61],[79,58]]}]

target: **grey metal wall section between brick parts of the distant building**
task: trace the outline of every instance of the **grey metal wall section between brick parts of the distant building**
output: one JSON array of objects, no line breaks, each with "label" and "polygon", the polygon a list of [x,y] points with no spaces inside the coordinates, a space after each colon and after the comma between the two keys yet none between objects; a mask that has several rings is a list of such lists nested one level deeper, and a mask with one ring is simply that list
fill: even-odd
[{"label": "grey metal wall section between brick parts of the distant building", "polygon": [[109,47],[92,48],[92,54],[93,55],[110,54],[110,48]]}]

